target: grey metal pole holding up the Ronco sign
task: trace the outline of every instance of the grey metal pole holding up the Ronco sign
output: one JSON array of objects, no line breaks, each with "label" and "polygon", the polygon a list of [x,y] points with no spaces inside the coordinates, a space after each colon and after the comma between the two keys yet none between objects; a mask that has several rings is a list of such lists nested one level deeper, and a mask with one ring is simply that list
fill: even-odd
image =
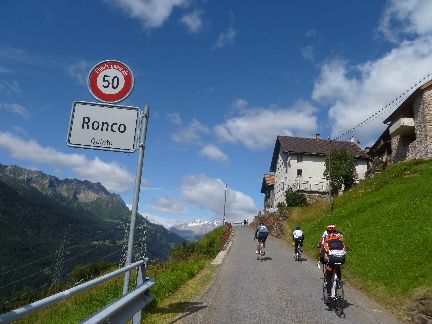
[{"label": "grey metal pole holding up the Ronco sign", "polygon": [[[149,119],[149,107],[144,107],[144,112],[141,114],[141,132],[140,132],[140,140],[139,140],[139,157],[138,157],[138,165],[137,172],[135,176],[135,189],[134,189],[134,198],[132,204],[132,215],[131,215],[131,223],[129,228],[129,241],[128,241],[128,251],[126,256],[126,264],[125,266],[131,264],[132,262],[132,252],[133,252],[133,243],[134,243],[134,234],[135,234],[135,222],[136,215],[138,211],[138,201],[139,201],[139,192],[141,186],[141,175],[142,175],[142,165],[144,160],[144,149],[145,149],[145,141],[147,136],[147,124]],[[129,289],[129,280],[130,280],[130,271],[125,273],[124,284],[123,284],[123,295],[126,295]]]}]

